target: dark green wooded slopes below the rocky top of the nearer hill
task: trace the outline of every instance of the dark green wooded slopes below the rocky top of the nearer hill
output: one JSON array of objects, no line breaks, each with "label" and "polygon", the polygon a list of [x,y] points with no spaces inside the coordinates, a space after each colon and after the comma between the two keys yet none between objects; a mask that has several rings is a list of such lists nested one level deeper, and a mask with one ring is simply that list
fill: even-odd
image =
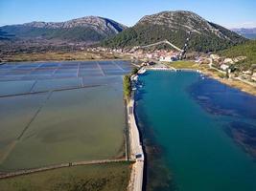
[{"label": "dark green wooded slopes below the rocky top of the nearer hill", "polygon": [[[198,26],[198,28],[200,27]],[[230,36],[232,40],[222,39],[211,32],[201,34],[194,32],[189,42],[189,50],[196,52],[215,52],[245,41],[243,37],[238,36],[234,32],[228,32],[221,28],[221,26],[216,25],[216,27],[225,35]],[[151,23],[139,23],[132,28],[118,33],[114,37],[106,39],[102,45],[113,48],[125,48],[148,45],[167,39],[174,43],[175,46],[183,47],[187,37],[188,33],[185,30],[172,30],[168,25],[159,26]]]}]

